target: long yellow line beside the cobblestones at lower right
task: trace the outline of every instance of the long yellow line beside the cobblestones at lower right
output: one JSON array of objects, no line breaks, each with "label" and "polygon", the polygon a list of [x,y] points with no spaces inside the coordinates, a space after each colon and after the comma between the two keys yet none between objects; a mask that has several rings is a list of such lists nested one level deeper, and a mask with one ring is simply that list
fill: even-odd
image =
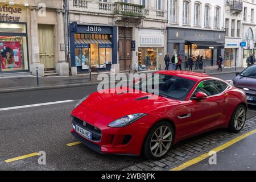
[{"label": "long yellow line beside the cobblestones at lower right", "polygon": [[[253,131],[250,131],[248,133],[245,133],[245,134],[241,135],[240,137],[237,137],[237,138],[235,138],[233,140],[230,140],[229,142],[226,142],[225,144],[222,144],[219,147],[214,148],[213,150],[211,150],[209,152],[219,152],[219,151],[222,151],[225,148],[228,148],[228,147],[232,146],[233,144],[235,144],[235,143],[241,141],[242,139],[245,139],[246,137],[249,137],[250,135],[253,135],[255,133],[256,133],[256,130],[253,130]],[[189,160],[188,162],[186,162],[184,164],[181,164],[178,167],[172,168],[170,171],[181,171],[181,170],[183,170],[185,168],[188,168],[189,166],[192,166],[193,164],[199,163],[202,160],[209,158],[209,152],[205,153],[203,155],[200,155],[197,158]]]}]

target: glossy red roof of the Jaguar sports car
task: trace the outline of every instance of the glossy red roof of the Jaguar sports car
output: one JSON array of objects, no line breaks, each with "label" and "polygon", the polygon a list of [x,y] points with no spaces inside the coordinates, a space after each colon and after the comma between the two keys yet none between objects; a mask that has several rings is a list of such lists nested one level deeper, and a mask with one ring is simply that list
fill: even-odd
[{"label": "glossy red roof of the Jaguar sports car", "polygon": [[157,71],[155,73],[162,74],[162,75],[177,76],[177,77],[193,80],[196,82],[200,80],[207,80],[207,79],[220,80],[216,77],[205,75],[205,73],[196,73],[196,72],[189,72],[189,71]]}]

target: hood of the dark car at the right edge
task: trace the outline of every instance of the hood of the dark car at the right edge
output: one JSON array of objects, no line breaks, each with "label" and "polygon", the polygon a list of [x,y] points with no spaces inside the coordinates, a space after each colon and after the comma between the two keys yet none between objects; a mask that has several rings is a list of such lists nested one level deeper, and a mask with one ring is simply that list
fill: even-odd
[{"label": "hood of the dark car at the right edge", "polygon": [[237,76],[234,78],[234,85],[238,88],[248,88],[250,90],[256,90],[256,78],[248,78]]}]

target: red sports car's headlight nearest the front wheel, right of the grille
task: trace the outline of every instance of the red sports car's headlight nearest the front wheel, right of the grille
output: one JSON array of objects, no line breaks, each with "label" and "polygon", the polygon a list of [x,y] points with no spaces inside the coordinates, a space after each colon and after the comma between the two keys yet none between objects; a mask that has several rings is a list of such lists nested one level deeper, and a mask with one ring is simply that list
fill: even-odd
[{"label": "red sports car's headlight nearest the front wheel, right of the grille", "polygon": [[137,121],[138,119],[144,117],[145,115],[147,114],[139,113],[139,114],[126,115],[125,117],[122,117],[110,123],[109,127],[125,127],[130,125],[134,121]]}]

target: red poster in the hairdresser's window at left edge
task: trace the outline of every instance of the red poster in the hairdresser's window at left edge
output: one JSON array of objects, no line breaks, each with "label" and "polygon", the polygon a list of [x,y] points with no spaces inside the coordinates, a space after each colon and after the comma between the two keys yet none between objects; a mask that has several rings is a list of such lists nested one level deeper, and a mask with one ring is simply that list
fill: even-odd
[{"label": "red poster in the hairdresser's window at left edge", "polygon": [[19,42],[0,42],[2,70],[22,68]]}]

